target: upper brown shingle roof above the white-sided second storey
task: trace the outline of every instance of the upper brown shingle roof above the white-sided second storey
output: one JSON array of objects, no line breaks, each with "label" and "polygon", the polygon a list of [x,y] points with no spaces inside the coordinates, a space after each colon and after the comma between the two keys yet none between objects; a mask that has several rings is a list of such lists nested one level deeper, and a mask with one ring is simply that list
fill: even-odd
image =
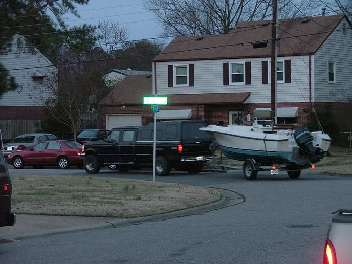
[{"label": "upper brown shingle roof above the white-sided second storey", "polygon": [[[314,54],[344,15],[279,20],[278,56]],[[347,18],[346,18],[347,19]],[[271,21],[241,22],[224,35],[176,37],[153,61],[270,57]],[[266,48],[252,42],[267,40]]]}]

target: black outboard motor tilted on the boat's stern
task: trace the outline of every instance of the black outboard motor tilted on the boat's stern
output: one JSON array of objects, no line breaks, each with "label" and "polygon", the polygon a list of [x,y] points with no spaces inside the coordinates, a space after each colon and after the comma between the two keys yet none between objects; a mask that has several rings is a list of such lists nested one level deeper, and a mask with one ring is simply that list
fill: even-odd
[{"label": "black outboard motor tilted on the boat's stern", "polygon": [[323,158],[321,149],[313,146],[313,136],[309,132],[308,128],[305,126],[297,128],[293,134],[293,137],[302,152],[309,157],[311,163],[316,163]]}]

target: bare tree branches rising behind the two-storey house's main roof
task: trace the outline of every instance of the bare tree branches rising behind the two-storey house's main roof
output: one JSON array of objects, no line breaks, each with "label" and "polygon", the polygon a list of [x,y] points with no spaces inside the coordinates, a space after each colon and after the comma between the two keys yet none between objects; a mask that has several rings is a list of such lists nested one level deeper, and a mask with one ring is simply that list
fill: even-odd
[{"label": "bare tree branches rising behind the two-storey house's main roof", "polygon": [[[227,34],[239,21],[272,19],[271,5],[271,0],[146,0],[144,6],[163,26],[163,36],[189,36]],[[317,13],[312,0],[281,0],[278,6],[280,18]]]}]

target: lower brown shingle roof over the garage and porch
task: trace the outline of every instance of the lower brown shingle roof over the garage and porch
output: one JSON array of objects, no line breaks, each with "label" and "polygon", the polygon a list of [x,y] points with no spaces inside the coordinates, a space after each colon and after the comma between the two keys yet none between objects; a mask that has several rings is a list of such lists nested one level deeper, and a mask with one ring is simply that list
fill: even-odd
[{"label": "lower brown shingle roof over the garage and porch", "polygon": [[[99,105],[142,105],[144,96],[152,95],[152,77],[127,75],[100,101]],[[243,103],[250,93],[165,95],[170,105]],[[159,94],[158,94],[159,96]]]}]

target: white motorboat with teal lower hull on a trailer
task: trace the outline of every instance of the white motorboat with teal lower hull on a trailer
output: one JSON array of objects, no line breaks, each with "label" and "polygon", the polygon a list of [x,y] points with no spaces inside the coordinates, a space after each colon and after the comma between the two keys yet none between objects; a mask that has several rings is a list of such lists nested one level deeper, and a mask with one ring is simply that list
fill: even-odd
[{"label": "white motorboat with teal lower hull on a trailer", "polygon": [[[270,119],[259,120],[257,117],[253,117],[251,126],[209,125],[200,130],[214,136],[227,158],[252,160],[249,169],[255,172],[254,178],[256,171],[265,170],[261,165],[276,165],[281,170],[298,171],[289,173],[290,177],[297,178],[300,170],[319,162],[326,155],[331,143],[329,135],[321,131],[310,132],[306,127],[282,129]],[[247,176],[251,175],[247,171]]]}]

